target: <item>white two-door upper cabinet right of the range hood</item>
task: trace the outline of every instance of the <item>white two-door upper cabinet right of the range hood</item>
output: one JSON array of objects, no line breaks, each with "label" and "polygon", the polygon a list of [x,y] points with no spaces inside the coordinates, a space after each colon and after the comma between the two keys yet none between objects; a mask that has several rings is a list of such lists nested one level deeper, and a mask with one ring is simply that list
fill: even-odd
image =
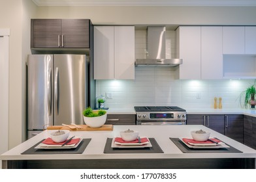
[{"label": "white two-door upper cabinet right of the range hood", "polygon": [[222,79],[222,27],[179,27],[180,79]]}]

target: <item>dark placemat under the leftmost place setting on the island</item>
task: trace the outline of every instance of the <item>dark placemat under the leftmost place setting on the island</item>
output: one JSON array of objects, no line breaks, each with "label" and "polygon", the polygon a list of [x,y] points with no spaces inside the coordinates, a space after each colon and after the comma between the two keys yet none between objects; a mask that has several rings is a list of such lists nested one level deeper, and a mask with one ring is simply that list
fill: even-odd
[{"label": "dark placemat under the leftmost place setting on the island", "polygon": [[[45,139],[44,139],[45,140]],[[22,152],[21,154],[75,154],[75,153],[83,153],[84,149],[88,146],[91,138],[84,138],[80,144],[73,149],[35,149],[43,140]]]}]

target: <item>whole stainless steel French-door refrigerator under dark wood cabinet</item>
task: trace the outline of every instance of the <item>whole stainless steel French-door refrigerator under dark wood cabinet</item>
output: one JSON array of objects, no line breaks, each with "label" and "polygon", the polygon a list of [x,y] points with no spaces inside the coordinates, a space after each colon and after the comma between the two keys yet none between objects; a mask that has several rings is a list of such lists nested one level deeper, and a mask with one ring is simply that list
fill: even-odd
[{"label": "whole stainless steel French-door refrigerator under dark wood cabinet", "polygon": [[48,125],[83,124],[88,107],[86,55],[29,55],[27,60],[27,136]]}]

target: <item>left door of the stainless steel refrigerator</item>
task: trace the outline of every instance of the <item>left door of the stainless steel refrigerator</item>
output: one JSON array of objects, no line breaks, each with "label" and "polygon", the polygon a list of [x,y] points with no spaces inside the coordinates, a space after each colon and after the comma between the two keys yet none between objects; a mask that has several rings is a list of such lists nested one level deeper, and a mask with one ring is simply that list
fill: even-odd
[{"label": "left door of the stainless steel refrigerator", "polygon": [[28,129],[53,125],[53,56],[29,55],[27,60]]}]

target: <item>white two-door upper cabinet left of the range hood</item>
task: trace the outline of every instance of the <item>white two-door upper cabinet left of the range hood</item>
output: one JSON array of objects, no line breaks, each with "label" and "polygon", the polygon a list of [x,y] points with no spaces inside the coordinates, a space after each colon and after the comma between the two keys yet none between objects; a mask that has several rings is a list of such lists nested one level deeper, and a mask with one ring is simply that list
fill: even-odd
[{"label": "white two-door upper cabinet left of the range hood", "polygon": [[135,27],[94,27],[94,79],[135,79]]}]

